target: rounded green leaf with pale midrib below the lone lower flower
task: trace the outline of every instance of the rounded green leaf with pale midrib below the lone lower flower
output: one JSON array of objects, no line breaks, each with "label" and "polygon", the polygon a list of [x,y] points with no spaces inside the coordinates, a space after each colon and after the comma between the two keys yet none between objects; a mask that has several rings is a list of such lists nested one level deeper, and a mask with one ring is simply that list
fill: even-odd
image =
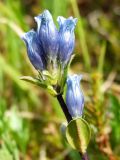
[{"label": "rounded green leaf with pale midrib below the lone lower flower", "polygon": [[70,121],[66,128],[66,138],[73,149],[85,153],[90,141],[91,131],[88,123],[78,117]]}]

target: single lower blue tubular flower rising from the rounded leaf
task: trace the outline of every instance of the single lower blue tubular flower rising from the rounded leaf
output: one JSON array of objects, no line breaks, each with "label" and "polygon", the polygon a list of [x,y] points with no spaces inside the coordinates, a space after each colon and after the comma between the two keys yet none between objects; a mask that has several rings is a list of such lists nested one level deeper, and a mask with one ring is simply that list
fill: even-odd
[{"label": "single lower blue tubular flower rising from the rounded leaf", "polygon": [[72,117],[82,116],[84,96],[80,88],[81,75],[72,75],[67,78],[66,104]]}]

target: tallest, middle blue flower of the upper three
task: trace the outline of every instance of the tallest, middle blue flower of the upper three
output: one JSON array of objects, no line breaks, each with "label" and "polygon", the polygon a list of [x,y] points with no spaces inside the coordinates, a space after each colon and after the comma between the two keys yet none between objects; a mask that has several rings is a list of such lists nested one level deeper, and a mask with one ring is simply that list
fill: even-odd
[{"label": "tallest, middle blue flower of the upper three", "polygon": [[35,17],[37,22],[37,33],[42,43],[46,56],[56,59],[58,52],[58,31],[53,22],[52,15],[48,10]]}]

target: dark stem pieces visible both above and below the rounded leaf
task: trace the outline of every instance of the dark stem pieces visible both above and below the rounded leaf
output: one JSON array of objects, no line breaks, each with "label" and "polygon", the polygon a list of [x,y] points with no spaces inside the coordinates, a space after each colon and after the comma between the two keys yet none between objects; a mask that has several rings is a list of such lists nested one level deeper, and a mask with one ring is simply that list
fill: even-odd
[{"label": "dark stem pieces visible both above and below the rounded leaf", "polygon": [[[68,121],[68,123],[72,120],[72,116],[70,115],[68,109],[67,109],[67,105],[62,97],[62,94],[57,95],[57,100],[63,110],[63,113]],[[87,152],[83,155],[79,152],[80,156],[82,157],[82,160],[89,160]]]}]

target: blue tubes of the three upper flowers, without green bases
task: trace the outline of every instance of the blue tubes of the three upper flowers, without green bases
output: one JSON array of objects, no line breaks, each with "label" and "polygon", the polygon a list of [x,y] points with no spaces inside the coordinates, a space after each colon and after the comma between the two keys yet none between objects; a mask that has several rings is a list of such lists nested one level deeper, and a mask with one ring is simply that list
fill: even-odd
[{"label": "blue tubes of the three upper flowers, without green bases", "polygon": [[[45,61],[46,65],[51,61],[54,63],[55,60],[62,64],[69,62],[74,49],[74,28],[77,19],[72,17],[66,19],[59,16],[57,18],[59,31],[48,10],[35,17],[35,21],[37,22],[37,31],[31,30],[22,37],[26,42],[28,57],[33,66],[37,70],[41,70],[47,68],[44,66]],[[39,64],[42,67],[38,65],[39,61],[43,61],[43,64],[41,62]]]}]

